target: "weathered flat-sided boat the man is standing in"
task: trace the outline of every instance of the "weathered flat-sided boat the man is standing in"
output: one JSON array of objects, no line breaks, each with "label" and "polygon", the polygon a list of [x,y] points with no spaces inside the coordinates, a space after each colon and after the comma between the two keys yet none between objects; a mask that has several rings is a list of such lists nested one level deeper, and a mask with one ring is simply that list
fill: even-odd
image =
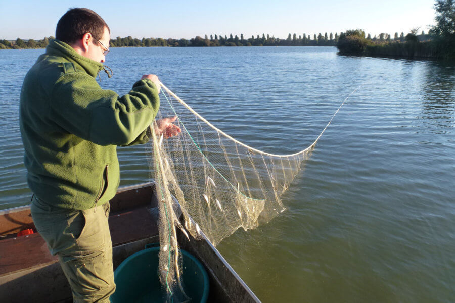
[{"label": "weathered flat-sided boat the man is standing in", "polygon": [[[154,182],[122,187],[110,201],[114,269],[145,245],[159,242],[155,189]],[[196,240],[177,232],[177,238],[207,271],[208,302],[260,302],[205,236]],[[36,232],[30,206],[0,211],[0,298],[3,303],[72,302],[58,257]]]}]

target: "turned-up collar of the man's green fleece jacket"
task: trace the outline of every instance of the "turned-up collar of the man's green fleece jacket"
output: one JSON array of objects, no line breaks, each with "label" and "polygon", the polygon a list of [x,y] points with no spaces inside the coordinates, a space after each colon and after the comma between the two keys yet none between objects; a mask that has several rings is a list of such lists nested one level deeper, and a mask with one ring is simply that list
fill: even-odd
[{"label": "turned-up collar of the man's green fleece jacket", "polygon": [[75,63],[76,69],[83,69],[87,74],[94,78],[100,71],[104,70],[101,62],[96,62],[95,60],[79,55],[74,51],[74,48],[57,39],[49,41],[49,44],[46,47],[46,54],[64,57],[68,61]]}]

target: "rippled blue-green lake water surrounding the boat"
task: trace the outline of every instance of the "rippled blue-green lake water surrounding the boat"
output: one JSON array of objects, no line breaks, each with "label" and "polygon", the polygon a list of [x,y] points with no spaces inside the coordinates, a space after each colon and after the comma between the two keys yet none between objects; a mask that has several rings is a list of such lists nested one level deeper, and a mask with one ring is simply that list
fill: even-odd
[{"label": "rippled blue-green lake water surrounding the boat", "polygon": [[[37,50],[0,51],[0,209],[26,205],[18,104]],[[276,154],[304,149],[354,91],[269,224],[217,246],[263,302],[455,300],[455,67],[334,47],[112,48],[126,93],[145,73],[215,126]],[[120,185],[148,181],[118,148]]]}]

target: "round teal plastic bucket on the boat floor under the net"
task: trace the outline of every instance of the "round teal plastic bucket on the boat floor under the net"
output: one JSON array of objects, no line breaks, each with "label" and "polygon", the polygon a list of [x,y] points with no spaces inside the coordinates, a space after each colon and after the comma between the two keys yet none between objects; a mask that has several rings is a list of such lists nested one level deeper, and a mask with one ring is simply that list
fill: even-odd
[{"label": "round teal plastic bucket on the boat floor under the net", "polygon": [[[111,296],[112,303],[165,302],[166,292],[158,278],[159,247],[151,247],[126,258],[114,271],[117,288]],[[202,264],[185,250],[183,258],[182,284],[191,302],[205,303],[208,298],[209,280]],[[178,286],[175,287],[178,290]],[[181,293],[174,294],[174,302],[184,301]]]}]

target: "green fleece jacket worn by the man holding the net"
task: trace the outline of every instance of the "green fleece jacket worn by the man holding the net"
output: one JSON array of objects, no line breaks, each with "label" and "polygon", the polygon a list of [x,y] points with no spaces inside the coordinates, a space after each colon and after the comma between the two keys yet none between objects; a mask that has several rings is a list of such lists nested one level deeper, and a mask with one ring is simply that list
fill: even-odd
[{"label": "green fleece jacket worn by the man holding the net", "polygon": [[102,89],[100,62],[51,40],[27,73],[20,128],[27,182],[43,203],[85,210],[102,205],[119,184],[117,145],[145,143],[159,107],[149,79],[119,96]]}]

